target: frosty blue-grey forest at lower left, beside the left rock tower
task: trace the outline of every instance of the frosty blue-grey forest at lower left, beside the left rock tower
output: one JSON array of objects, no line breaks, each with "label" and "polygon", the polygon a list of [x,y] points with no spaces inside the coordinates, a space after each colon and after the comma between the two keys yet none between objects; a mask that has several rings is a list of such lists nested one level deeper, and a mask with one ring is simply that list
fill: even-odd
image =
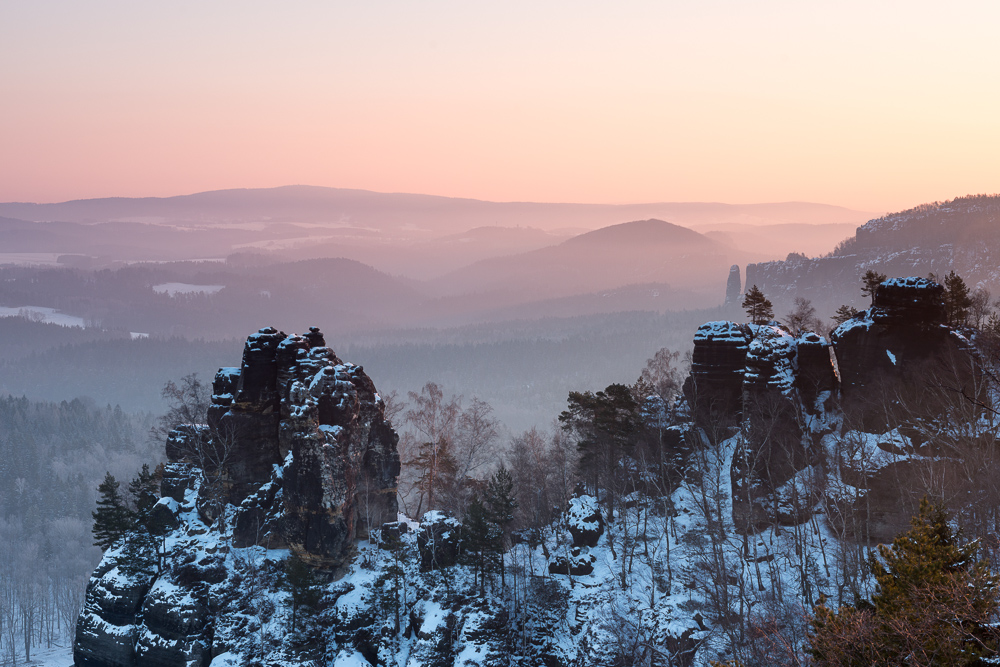
[{"label": "frosty blue-grey forest at lower left, beside the left rock tower", "polygon": [[96,485],[161,456],[154,420],[120,408],[0,398],[0,661],[66,646],[101,552]]}]

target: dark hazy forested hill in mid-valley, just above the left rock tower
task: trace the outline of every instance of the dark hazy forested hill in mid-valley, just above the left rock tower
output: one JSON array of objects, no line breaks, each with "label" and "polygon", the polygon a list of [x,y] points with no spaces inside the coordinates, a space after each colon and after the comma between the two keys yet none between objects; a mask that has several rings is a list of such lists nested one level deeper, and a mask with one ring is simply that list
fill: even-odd
[{"label": "dark hazy forested hill in mid-valley, just above the left rock tower", "polygon": [[[171,296],[163,283],[219,285],[214,293]],[[420,295],[405,281],[346,259],[244,266],[222,262],[136,264],[88,271],[0,266],[0,305],[42,306],[88,326],[160,336],[227,338],[273,322],[307,321],[322,302],[326,327],[340,331],[394,324]],[[412,313],[410,313],[412,314]]]}]

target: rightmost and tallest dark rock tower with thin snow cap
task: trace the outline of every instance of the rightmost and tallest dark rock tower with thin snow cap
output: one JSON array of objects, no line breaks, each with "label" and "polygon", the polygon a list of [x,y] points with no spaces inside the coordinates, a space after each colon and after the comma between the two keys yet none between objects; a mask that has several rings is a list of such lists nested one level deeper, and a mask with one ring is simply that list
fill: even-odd
[{"label": "rightmost and tallest dark rock tower with thin snow cap", "polygon": [[975,379],[973,346],[945,324],[943,293],[926,278],[887,280],[871,309],[833,335],[844,421],[837,460],[856,491],[828,494],[828,503],[845,521],[864,517],[874,540],[891,539],[906,527],[928,465],[944,478],[957,475],[961,465],[926,442],[938,430],[937,416],[954,409],[954,396],[935,387],[971,394],[984,388]]}]

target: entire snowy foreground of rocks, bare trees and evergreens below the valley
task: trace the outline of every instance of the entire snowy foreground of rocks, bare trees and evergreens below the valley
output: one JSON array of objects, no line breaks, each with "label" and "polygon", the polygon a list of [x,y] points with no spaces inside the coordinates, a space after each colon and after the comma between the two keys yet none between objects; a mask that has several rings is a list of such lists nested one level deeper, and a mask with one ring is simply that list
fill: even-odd
[{"label": "entire snowy foreground of rocks, bare trees and evergreens below the valley", "polygon": [[[208,426],[175,431],[131,496],[102,486],[126,519],[101,524],[77,664],[833,665],[857,658],[852,638],[878,662],[932,650],[923,636],[992,655],[1000,319],[971,326],[970,291],[943,282],[868,276],[872,307],[832,346],[808,304],[793,332],[748,289],[759,323],[709,322],[688,362],[660,350],[634,382],[571,392],[551,428],[514,436],[477,398],[434,383],[381,397],[318,331],[262,329],[210,401],[191,378],[175,387],[174,421],[207,406]],[[247,445],[218,434],[270,423],[279,395],[250,379],[268,354],[291,383],[289,449],[252,473],[234,467]],[[326,396],[357,416],[323,417]],[[344,472],[310,477],[298,461],[317,455]],[[296,528],[313,502],[339,508],[327,537]],[[338,537],[352,531],[353,546]]]}]

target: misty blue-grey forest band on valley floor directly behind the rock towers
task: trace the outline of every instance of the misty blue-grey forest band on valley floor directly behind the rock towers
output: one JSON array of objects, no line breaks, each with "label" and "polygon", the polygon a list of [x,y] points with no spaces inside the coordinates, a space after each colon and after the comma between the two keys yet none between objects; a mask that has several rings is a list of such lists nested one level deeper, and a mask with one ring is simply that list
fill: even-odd
[{"label": "misty blue-grey forest band on valley floor directly behind the rock towers", "polygon": [[[719,316],[716,311],[674,316],[621,313],[542,322],[538,329],[521,323],[521,327],[505,329],[518,338],[489,342],[476,342],[493,337],[486,326],[472,332],[441,332],[445,337],[468,336],[468,342],[370,345],[340,343],[335,336],[327,340],[342,359],[363,365],[386,393],[419,391],[431,380],[456,393],[479,395],[493,405],[505,424],[520,431],[532,425],[547,426],[563,409],[572,389],[631,381],[650,350],[687,349],[691,332],[703,318]],[[45,337],[59,330],[46,338],[52,341],[81,340],[88,331],[20,322],[35,325],[25,327],[25,332],[41,332]],[[5,323],[0,319],[0,327]],[[244,330],[243,336],[259,326],[260,322]],[[66,331],[79,332],[80,338],[63,335]],[[118,404],[127,410],[159,412],[163,406],[160,388],[166,379],[198,373],[209,382],[215,369],[239,365],[243,345],[242,337],[224,341],[180,337],[82,340],[86,342],[54,348],[39,342],[24,348],[30,350],[26,356],[0,361],[0,394],[58,400],[91,396],[102,404]],[[97,377],[101,382],[95,382]]]}]

